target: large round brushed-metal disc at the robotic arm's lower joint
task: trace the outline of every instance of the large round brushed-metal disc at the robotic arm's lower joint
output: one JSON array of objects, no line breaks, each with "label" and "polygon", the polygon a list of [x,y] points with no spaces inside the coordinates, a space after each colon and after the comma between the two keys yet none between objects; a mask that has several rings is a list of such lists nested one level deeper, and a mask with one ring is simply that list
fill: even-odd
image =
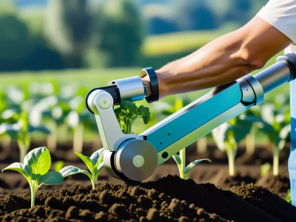
[{"label": "large round brushed-metal disc at the robotic arm's lower joint", "polygon": [[141,139],[124,141],[115,156],[117,170],[133,181],[149,178],[157,167],[157,161],[156,149]]}]

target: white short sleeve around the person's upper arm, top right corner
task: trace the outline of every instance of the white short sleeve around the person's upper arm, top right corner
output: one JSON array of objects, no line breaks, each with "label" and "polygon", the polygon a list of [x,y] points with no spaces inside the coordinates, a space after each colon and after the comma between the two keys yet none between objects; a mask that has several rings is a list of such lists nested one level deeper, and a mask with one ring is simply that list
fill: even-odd
[{"label": "white short sleeve around the person's upper arm, top right corner", "polygon": [[296,43],[296,0],[269,0],[257,16]]}]

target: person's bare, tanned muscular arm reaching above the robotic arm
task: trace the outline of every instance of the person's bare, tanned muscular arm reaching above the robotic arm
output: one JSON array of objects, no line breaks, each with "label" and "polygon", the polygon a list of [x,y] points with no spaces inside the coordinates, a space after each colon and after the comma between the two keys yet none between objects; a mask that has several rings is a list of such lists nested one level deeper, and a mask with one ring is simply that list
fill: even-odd
[{"label": "person's bare, tanned muscular arm reaching above the robotic arm", "polygon": [[[260,69],[292,44],[277,28],[256,15],[242,28],[161,67],[156,70],[159,98],[221,86]],[[143,82],[147,84],[149,77]]]}]

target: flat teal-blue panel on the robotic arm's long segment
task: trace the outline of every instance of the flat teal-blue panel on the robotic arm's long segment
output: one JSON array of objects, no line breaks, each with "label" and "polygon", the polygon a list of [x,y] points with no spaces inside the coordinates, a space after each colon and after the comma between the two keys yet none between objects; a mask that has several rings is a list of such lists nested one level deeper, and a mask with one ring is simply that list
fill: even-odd
[{"label": "flat teal-blue panel on the robotic arm's long segment", "polygon": [[210,92],[197,99],[139,136],[145,136],[146,140],[153,144],[156,151],[160,152],[211,119],[234,107],[241,100],[242,91],[239,83],[233,83],[217,94]]}]

